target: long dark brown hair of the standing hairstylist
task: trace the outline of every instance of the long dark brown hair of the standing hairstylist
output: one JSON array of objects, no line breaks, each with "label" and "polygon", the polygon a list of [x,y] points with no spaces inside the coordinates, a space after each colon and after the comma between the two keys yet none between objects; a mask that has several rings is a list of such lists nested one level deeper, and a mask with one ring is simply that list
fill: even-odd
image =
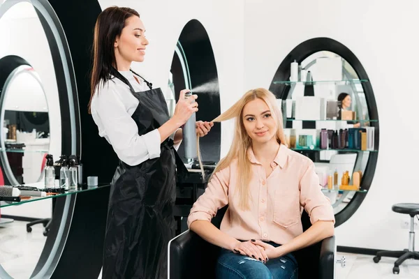
[{"label": "long dark brown hair of the standing hairstylist", "polygon": [[136,10],[117,6],[106,8],[98,15],[94,27],[89,113],[91,100],[93,99],[97,86],[101,82],[110,80],[112,67],[117,67],[114,50],[115,39],[117,36],[121,36],[122,29],[126,25],[126,20],[133,15],[140,17]]}]

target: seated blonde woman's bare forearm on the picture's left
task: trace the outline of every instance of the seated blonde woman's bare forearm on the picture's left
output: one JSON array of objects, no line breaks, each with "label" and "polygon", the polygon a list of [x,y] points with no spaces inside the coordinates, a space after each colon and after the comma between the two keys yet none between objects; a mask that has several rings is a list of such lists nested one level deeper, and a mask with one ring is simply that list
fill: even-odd
[{"label": "seated blonde woman's bare forearm on the picture's left", "polygon": [[190,226],[191,231],[196,232],[205,241],[224,249],[233,250],[237,243],[237,239],[228,234],[221,232],[210,221],[196,220]]}]

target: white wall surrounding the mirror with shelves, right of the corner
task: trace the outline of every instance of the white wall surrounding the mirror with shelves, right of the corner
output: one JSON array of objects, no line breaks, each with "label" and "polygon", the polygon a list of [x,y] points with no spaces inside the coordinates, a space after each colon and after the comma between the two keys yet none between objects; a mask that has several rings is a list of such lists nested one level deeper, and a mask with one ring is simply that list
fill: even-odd
[{"label": "white wall surrounding the mirror with shelves, right of the corner", "polygon": [[346,45],[371,80],[380,120],[378,164],[364,202],[336,229],[339,246],[408,248],[409,230],[400,225],[406,216],[391,206],[419,203],[417,164],[409,163],[419,156],[418,10],[416,0],[245,1],[244,90],[270,86],[284,57],[316,37]]}]

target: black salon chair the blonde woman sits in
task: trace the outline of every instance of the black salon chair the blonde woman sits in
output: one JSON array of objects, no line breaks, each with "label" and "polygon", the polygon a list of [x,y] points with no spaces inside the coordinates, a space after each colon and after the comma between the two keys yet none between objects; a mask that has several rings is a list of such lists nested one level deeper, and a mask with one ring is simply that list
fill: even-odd
[{"label": "black salon chair the blonde woman sits in", "polygon": [[[212,223],[219,227],[227,206],[220,209]],[[308,214],[301,216],[304,231],[311,226]],[[169,243],[170,279],[215,278],[220,248],[187,230]],[[332,279],[335,272],[335,236],[293,253],[298,262],[298,278]]]}]

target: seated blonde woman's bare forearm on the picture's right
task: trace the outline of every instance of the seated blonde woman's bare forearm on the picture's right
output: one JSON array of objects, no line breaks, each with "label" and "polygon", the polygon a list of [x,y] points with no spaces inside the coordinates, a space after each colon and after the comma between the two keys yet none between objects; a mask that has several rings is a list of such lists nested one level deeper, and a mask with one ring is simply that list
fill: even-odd
[{"label": "seated blonde woman's bare forearm on the picture's right", "polygon": [[292,241],[276,248],[278,251],[277,257],[281,257],[289,252],[311,246],[312,244],[333,236],[334,234],[335,227],[332,221],[317,221],[311,225],[307,231],[295,237]]}]

